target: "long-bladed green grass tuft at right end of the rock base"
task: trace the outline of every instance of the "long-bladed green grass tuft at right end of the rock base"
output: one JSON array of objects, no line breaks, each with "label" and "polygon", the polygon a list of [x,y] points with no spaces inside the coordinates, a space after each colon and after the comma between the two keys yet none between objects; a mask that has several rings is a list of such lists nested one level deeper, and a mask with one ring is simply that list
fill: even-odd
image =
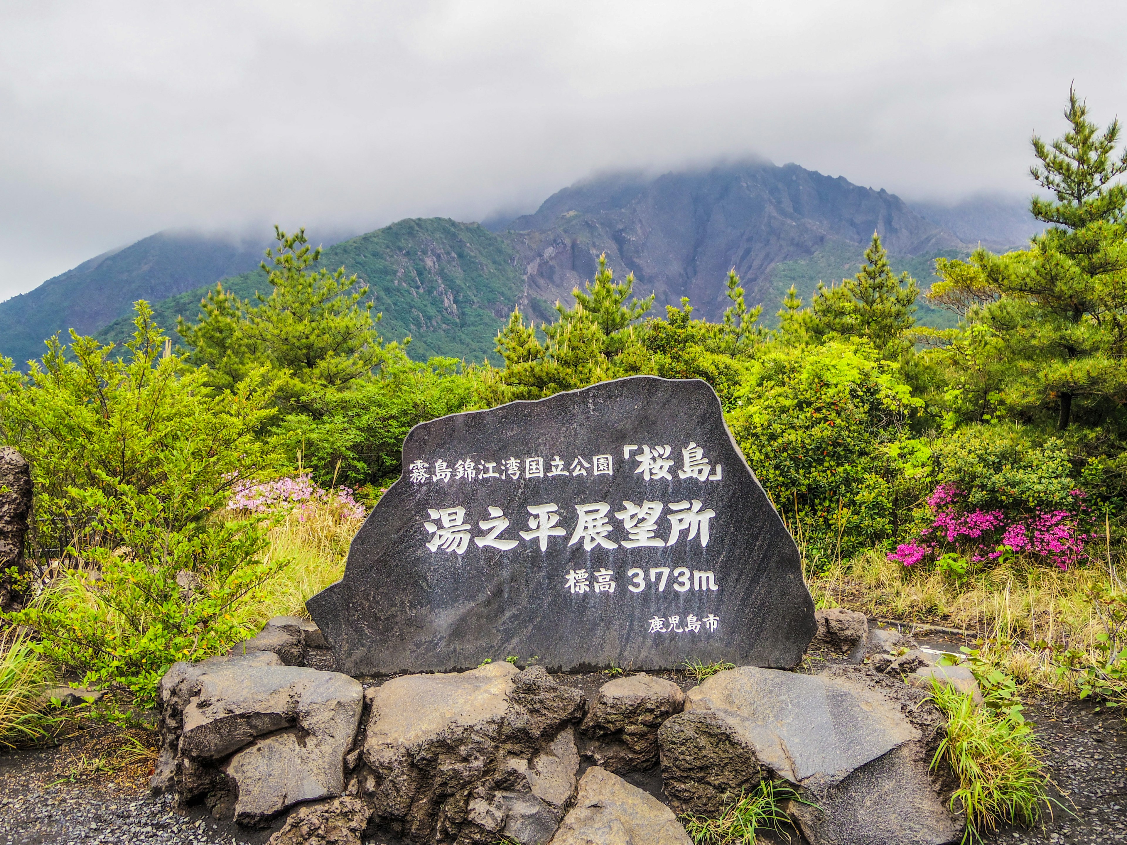
[{"label": "long-bladed green grass tuft at right end of the rock base", "polygon": [[[995,701],[1008,701],[1006,691],[1006,684],[997,684],[992,691]],[[983,831],[1002,824],[1033,825],[1041,807],[1048,807],[1048,775],[1020,704],[979,708],[970,695],[937,682],[931,699],[948,720],[931,766],[946,763],[958,777],[951,809],[966,815],[962,842],[980,842]]]}]

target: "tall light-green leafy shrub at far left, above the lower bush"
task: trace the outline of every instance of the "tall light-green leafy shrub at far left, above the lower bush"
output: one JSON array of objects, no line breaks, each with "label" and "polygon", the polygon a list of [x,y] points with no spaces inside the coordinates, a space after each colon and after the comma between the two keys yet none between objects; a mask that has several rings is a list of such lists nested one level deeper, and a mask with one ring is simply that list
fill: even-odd
[{"label": "tall light-green leafy shrub at far left, above the lower bush", "polygon": [[[50,557],[82,559],[121,539],[95,526],[85,490],[108,499],[121,486],[161,502],[172,531],[221,507],[237,484],[274,463],[257,437],[273,411],[273,384],[251,373],[233,390],[213,393],[205,370],[167,353],[143,301],[123,358],[113,346],[71,332],[47,344],[27,375],[0,370],[0,438],[32,464],[33,540]],[[162,354],[163,353],[163,354]]]}]

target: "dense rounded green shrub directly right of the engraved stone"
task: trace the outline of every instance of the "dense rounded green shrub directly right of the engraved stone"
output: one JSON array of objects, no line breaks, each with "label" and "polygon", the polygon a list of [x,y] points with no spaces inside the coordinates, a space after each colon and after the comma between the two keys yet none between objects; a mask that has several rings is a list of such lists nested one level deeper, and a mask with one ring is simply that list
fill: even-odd
[{"label": "dense rounded green shrub directly right of the engraved stone", "polygon": [[737,443],[807,554],[828,561],[903,535],[931,451],[922,404],[867,345],[765,347],[728,415]]}]

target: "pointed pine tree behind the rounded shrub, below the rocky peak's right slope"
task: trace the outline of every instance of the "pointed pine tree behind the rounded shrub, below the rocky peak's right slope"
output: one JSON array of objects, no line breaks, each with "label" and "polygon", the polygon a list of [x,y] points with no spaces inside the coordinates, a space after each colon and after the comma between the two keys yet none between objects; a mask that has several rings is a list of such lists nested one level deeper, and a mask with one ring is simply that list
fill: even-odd
[{"label": "pointed pine tree behind the rounded shrub, below the rocky peak's right slope", "polygon": [[818,283],[810,303],[814,330],[864,337],[880,357],[898,358],[911,347],[904,332],[915,324],[919,295],[920,286],[907,273],[893,274],[888,251],[873,232],[860,273],[828,288]]}]

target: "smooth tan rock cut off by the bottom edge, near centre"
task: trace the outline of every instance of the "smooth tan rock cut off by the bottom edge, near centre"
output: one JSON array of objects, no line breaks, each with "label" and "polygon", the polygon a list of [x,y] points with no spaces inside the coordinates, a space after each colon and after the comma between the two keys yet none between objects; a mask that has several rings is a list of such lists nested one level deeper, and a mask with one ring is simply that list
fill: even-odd
[{"label": "smooth tan rock cut off by the bottom edge, near centre", "polygon": [[691,839],[668,807],[592,766],[551,845],[691,845]]}]

